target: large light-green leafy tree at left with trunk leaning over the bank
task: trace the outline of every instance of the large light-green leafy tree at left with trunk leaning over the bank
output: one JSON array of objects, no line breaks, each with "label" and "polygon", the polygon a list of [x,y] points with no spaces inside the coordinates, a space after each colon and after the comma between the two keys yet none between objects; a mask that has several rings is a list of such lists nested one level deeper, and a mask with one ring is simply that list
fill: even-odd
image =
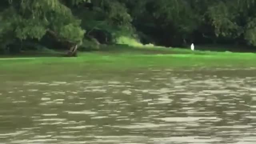
[{"label": "large light-green leafy tree at left with trunk leaning over the bank", "polygon": [[[71,54],[76,53],[85,30],[80,28],[80,20],[64,5],[64,0],[3,1],[6,6],[0,11],[0,36],[4,46],[16,39],[40,40],[50,34],[58,41],[70,43]],[[75,4],[83,0],[72,1]]]}]

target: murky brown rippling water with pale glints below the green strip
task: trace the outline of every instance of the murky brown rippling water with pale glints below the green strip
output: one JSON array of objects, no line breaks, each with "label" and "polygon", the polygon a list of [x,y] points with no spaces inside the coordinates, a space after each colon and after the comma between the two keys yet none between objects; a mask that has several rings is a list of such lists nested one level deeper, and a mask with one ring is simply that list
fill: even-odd
[{"label": "murky brown rippling water with pale glints below the green strip", "polygon": [[61,81],[5,77],[0,142],[255,144],[255,72],[144,70]]}]

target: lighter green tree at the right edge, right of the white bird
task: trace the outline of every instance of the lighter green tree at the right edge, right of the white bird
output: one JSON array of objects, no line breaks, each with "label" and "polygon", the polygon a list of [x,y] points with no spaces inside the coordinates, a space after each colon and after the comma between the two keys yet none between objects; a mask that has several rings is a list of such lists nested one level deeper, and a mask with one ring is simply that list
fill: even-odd
[{"label": "lighter green tree at the right edge, right of the white bird", "polygon": [[217,36],[240,38],[256,46],[256,0],[222,0],[208,6]]}]

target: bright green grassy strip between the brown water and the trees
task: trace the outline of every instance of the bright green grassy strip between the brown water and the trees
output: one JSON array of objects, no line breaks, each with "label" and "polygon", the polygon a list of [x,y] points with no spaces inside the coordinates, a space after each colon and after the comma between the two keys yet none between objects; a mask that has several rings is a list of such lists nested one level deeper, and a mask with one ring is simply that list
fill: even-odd
[{"label": "bright green grassy strip between the brown water and the trees", "polygon": [[[40,56],[40,55],[38,55]],[[29,55],[0,58],[0,74],[58,74],[132,71],[144,68],[215,69],[256,68],[256,54],[191,51],[181,48],[102,46],[78,57]]]}]

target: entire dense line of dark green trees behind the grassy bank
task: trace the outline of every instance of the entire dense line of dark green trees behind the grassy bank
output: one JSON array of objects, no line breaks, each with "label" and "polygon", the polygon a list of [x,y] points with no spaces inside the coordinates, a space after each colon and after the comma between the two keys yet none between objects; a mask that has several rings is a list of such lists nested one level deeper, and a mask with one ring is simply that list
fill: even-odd
[{"label": "entire dense line of dark green trees behind the grassy bank", "polygon": [[256,46],[256,0],[89,1],[1,0],[0,51],[50,39],[74,52],[121,35],[163,46]]}]

